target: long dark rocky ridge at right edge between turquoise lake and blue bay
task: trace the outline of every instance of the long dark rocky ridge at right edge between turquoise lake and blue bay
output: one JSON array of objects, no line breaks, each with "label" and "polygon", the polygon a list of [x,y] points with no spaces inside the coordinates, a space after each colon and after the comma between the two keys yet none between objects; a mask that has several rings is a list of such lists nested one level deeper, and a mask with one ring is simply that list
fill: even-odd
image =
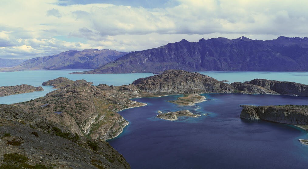
[{"label": "long dark rocky ridge at right edge between turquoise lake and blue bay", "polygon": [[234,82],[230,85],[243,93],[308,96],[308,85],[294,82],[254,79],[245,83]]}]

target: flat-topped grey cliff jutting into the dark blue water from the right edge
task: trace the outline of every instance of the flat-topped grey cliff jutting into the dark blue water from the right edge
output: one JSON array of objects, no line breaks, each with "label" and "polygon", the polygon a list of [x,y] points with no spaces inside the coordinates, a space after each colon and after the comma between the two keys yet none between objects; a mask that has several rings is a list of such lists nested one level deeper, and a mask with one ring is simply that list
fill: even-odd
[{"label": "flat-topped grey cliff jutting into the dark blue water from the right edge", "polygon": [[307,105],[249,106],[242,105],[241,118],[268,120],[292,125],[308,124]]}]

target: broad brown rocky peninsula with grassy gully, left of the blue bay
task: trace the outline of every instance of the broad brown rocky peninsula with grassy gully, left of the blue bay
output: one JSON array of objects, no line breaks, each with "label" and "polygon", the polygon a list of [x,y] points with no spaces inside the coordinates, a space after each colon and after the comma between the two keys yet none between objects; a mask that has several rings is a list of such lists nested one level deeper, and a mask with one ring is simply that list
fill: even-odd
[{"label": "broad brown rocky peninsula with grassy gully, left of the blue bay", "polygon": [[45,97],[15,105],[62,124],[71,133],[93,139],[107,140],[122,132],[128,122],[116,111],[146,105],[129,100],[138,94],[134,85],[93,86],[92,82],[86,80],[73,81],[67,78],[49,80],[43,84],[59,89],[47,93]]}]

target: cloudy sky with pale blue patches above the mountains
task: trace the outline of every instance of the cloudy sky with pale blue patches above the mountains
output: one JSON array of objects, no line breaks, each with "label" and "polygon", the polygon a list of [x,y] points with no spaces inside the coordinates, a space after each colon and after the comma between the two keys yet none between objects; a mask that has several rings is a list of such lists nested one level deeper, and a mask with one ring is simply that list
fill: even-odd
[{"label": "cloudy sky with pale blue patches above the mountains", "polygon": [[131,52],[182,39],[307,37],[307,6],[306,0],[2,0],[0,58]]}]

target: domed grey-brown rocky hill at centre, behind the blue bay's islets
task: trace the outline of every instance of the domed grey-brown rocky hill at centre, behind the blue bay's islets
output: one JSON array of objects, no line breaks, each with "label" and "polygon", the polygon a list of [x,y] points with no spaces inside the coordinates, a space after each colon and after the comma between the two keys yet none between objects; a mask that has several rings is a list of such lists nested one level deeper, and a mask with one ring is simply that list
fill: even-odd
[{"label": "domed grey-brown rocky hill at centre, behind the blue bay's islets", "polygon": [[160,75],[135,80],[132,84],[149,93],[231,93],[234,87],[200,73],[167,70]]}]

